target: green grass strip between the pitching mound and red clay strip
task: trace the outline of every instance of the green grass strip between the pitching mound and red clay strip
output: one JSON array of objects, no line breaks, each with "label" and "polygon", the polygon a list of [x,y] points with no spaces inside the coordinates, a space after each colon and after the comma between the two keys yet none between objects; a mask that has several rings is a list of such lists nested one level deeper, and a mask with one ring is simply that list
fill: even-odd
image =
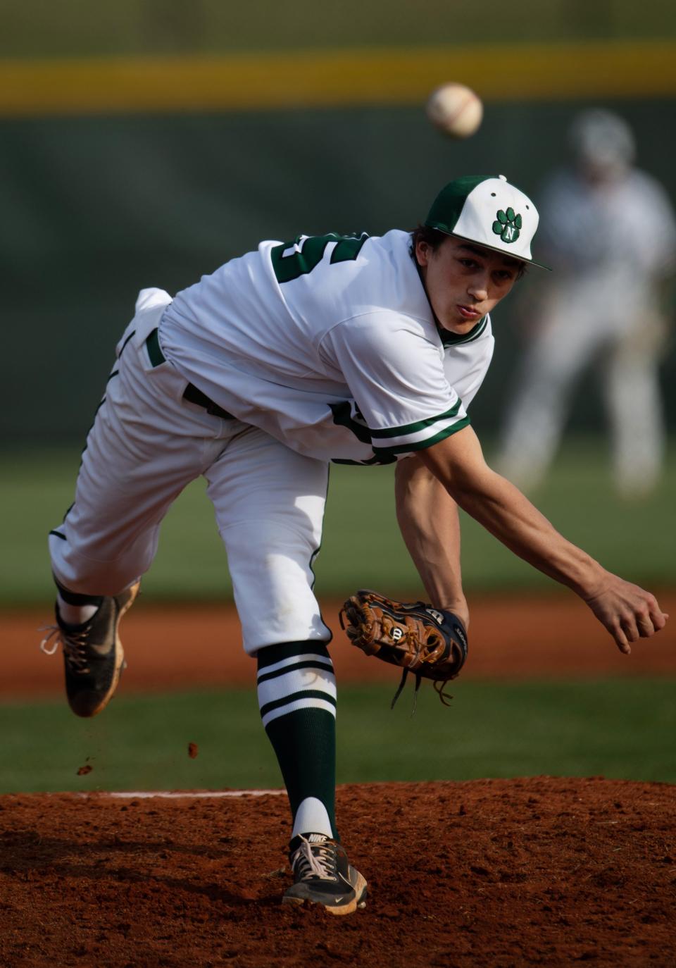
[{"label": "green grass strip between the pitching mound and red clay strip", "polygon": [[[396,678],[396,677],[395,677]],[[449,709],[421,690],[340,689],[338,782],[564,775],[676,782],[673,682],[458,682]],[[0,794],[281,785],[254,689],[118,695],[92,720],[66,703],[0,710]],[[188,743],[199,753],[188,756]],[[93,769],[77,776],[77,770]]]}]

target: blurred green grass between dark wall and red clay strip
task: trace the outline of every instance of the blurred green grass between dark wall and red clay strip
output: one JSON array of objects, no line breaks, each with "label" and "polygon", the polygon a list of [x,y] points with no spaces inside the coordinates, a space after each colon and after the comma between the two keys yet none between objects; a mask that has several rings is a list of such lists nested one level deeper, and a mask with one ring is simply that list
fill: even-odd
[{"label": "blurred green grass between dark wall and red clay strip", "polygon": [[[0,561],[0,606],[44,604],[52,596],[45,536],[73,500],[78,451],[9,457],[0,478],[2,533],[11,555]],[[160,551],[144,579],[147,599],[220,599],[230,596],[225,555],[202,481],[174,504],[162,529]],[[605,446],[569,442],[536,504],[554,525],[606,567],[651,587],[676,583],[676,442],[669,448],[659,491],[628,503],[614,496]],[[463,571],[471,590],[553,588],[514,558],[475,522],[463,525]],[[420,585],[398,533],[393,469],[334,467],[324,543],[316,561],[317,590],[341,594],[355,585],[390,593]]]}]

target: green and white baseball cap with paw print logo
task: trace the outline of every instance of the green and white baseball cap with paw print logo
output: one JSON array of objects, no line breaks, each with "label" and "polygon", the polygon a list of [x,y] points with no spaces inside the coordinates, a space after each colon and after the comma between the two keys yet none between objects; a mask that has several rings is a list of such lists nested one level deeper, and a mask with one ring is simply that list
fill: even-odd
[{"label": "green and white baseball cap with paw print logo", "polygon": [[425,225],[548,269],[531,254],[539,221],[531,199],[504,175],[464,175],[439,192]]}]

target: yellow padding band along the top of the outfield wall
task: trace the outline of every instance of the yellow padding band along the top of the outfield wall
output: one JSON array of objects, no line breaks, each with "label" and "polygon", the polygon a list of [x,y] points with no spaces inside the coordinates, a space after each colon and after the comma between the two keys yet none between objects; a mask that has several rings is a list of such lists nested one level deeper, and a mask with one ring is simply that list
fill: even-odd
[{"label": "yellow padding band along the top of the outfield wall", "polygon": [[420,104],[446,80],[486,101],[676,94],[676,44],[345,48],[0,61],[0,115]]}]

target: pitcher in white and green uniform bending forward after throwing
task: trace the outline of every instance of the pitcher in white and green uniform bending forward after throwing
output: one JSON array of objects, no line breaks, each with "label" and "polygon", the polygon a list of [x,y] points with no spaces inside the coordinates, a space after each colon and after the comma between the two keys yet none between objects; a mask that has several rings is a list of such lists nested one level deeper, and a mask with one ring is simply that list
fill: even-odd
[{"label": "pitcher in white and green uniform bending forward after throwing", "polygon": [[620,650],[666,619],[488,468],[470,425],[490,313],[536,264],[537,226],[502,175],[458,178],[413,232],[266,241],[173,298],[144,289],[118,344],[73,505],[49,535],[57,624],[44,649],[62,645],[73,711],[102,711],[162,518],[204,476],[291,806],[284,902],[343,915],[367,889],[338,840],[331,631],[312,591],[331,461],[396,464],[428,603],[363,590],[344,615],[356,645],[418,681],[443,685],[467,651],[457,506],[580,595]]}]

